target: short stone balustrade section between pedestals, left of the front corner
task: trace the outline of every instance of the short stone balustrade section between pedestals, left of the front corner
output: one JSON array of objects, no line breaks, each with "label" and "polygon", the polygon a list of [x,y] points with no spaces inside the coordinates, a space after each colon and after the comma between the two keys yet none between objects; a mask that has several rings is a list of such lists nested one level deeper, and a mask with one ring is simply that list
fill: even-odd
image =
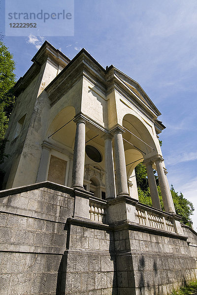
[{"label": "short stone balustrade section between pedestals, left of the front corner", "polygon": [[106,223],[106,205],[105,203],[90,200],[89,217],[92,221]]}]

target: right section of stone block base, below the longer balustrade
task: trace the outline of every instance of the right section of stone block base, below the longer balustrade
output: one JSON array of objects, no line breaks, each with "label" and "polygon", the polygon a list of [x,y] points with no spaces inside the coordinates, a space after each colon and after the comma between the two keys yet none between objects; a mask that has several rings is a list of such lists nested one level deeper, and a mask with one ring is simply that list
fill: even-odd
[{"label": "right section of stone block base, below the longer balustrade", "polygon": [[[126,226],[125,226],[126,228]],[[197,266],[186,237],[152,234],[145,228],[114,233],[118,294],[169,294],[197,278]]]}]

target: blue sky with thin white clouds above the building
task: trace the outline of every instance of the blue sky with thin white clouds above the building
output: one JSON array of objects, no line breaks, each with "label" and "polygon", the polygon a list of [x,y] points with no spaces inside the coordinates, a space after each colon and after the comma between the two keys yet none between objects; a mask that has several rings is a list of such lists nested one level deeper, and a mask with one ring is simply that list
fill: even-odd
[{"label": "blue sky with thin white clouds above the building", "polygon": [[160,139],[169,184],[194,204],[196,229],[197,1],[75,0],[74,36],[4,37],[17,78],[45,39],[70,59],[86,48],[103,67],[113,64],[146,91],[166,126]]}]

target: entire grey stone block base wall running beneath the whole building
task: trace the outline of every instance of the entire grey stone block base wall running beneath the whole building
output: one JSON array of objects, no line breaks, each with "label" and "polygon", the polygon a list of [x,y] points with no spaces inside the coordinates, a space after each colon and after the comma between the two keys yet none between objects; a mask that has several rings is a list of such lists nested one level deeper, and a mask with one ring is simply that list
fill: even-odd
[{"label": "entire grey stone block base wall running beneath the whole building", "polygon": [[197,278],[194,230],[101,224],[76,194],[51,182],[0,192],[0,295],[167,295]]}]

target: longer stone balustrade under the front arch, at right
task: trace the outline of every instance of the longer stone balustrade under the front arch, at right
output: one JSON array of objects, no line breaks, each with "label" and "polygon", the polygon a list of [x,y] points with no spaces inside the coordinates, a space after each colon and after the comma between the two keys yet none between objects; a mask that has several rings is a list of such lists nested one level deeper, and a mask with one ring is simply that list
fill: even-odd
[{"label": "longer stone balustrade under the front arch, at right", "polygon": [[172,217],[170,218],[170,216],[166,216],[162,212],[155,213],[151,210],[136,207],[136,217],[138,223],[141,225],[175,233]]}]

